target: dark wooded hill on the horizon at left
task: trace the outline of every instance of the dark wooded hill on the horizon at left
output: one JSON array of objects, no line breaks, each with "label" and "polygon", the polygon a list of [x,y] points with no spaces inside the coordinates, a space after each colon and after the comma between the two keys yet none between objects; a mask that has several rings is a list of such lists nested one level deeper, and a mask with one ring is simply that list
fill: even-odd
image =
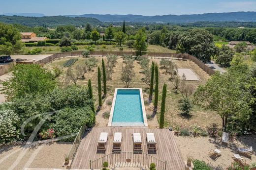
[{"label": "dark wooded hill on the horizon at left", "polygon": [[45,26],[55,27],[58,25],[75,25],[83,26],[87,23],[96,25],[101,22],[95,18],[85,17],[64,17],[64,16],[51,16],[51,17],[24,17],[24,16],[4,16],[0,15],[0,22],[6,24],[23,24],[26,26]]}]

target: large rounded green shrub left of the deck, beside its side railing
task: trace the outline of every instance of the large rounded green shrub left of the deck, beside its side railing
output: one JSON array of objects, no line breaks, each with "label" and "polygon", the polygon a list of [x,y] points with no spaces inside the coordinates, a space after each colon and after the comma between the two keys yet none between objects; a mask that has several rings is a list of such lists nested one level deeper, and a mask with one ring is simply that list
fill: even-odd
[{"label": "large rounded green shrub left of the deck, beside its side railing", "polygon": [[[95,122],[95,114],[89,106],[81,108],[66,107],[59,110],[54,116],[56,123],[52,124],[56,134],[61,137],[77,133],[80,127],[86,124],[91,127]],[[68,138],[67,141],[73,141],[73,138]]]}]

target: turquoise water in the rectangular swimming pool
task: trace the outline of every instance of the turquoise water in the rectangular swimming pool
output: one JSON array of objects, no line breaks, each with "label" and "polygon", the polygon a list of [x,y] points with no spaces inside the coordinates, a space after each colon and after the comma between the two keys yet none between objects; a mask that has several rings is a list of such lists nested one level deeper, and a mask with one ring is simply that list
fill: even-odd
[{"label": "turquoise water in the rectangular swimming pool", "polygon": [[118,89],[112,126],[144,126],[139,89]]}]

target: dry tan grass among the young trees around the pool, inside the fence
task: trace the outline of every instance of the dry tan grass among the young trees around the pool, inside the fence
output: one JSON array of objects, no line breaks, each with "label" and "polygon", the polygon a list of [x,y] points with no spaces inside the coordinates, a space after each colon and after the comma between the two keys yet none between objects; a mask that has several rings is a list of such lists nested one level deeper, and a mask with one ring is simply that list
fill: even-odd
[{"label": "dry tan grass among the young trees around the pool, inside the fence", "polygon": [[[70,58],[64,58],[64,59],[58,59],[55,60],[47,65],[45,65],[45,67],[47,69],[52,69],[54,67],[60,67],[63,69],[63,73],[62,75],[58,78],[60,85],[65,86],[66,83],[64,82],[64,77],[65,77],[65,70],[66,68],[63,67],[63,64],[65,61],[67,61]],[[101,64],[100,60],[102,59],[101,57],[97,57],[98,59],[98,65]],[[79,58],[78,61],[72,66],[74,67],[77,64],[83,64],[85,62],[86,58]],[[104,60],[106,60],[106,58],[104,58]],[[150,59],[151,61],[155,61],[156,63],[159,64],[160,59]],[[210,76],[205,73],[204,71],[202,71],[195,63],[193,63],[192,61],[183,61],[183,60],[173,60],[178,68],[188,68],[191,69],[194,73],[197,74],[197,76],[202,80],[202,81],[187,81],[187,83],[192,84],[195,88],[200,85],[203,84],[207,81],[208,78],[210,78]],[[106,63],[106,62],[105,62]],[[122,70],[122,64],[123,64],[123,59],[122,58],[118,58],[118,62],[116,63],[116,67],[114,68],[114,73],[112,75],[112,80],[107,81],[107,88],[108,88],[108,95],[109,96],[113,96],[114,95],[114,90],[115,88],[122,88],[125,85],[122,83],[121,81],[121,70]],[[88,72],[85,74],[85,79],[79,79],[77,84],[81,85],[81,86],[86,86],[88,79],[92,80],[92,84],[93,84],[93,90],[94,90],[94,97],[96,99],[96,104],[97,104],[97,71],[96,71],[96,67],[94,68],[94,70],[92,72]],[[142,88],[143,89],[143,97],[145,100],[148,100],[148,96],[149,96],[149,86],[146,85],[141,79],[144,77],[143,73],[141,72],[141,67],[139,65],[139,63],[137,61],[134,61],[134,71],[136,73],[135,78],[134,78],[134,83],[131,85],[131,87],[134,88]],[[162,91],[162,85],[164,83],[167,84],[167,97],[166,97],[166,112],[165,112],[165,127],[169,127],[169,126],[190,126],[194,123],[199,124],[202,127],[206,127],[208,126],[210,123],[212,122],[216,122],[216,123],[221,123],[221,118],[212,111],[205,111],[202,110],[200,108],[198,108],[197,106],[194,106],[193,111],[192,111],[192,116],[190,118],[186,118],[180,115],[180,110],[179,110],[179,101],[180,99],[182,99],[181,94],[176,94],[173,91],[174,85],[172,84],[172,82],[169,80],[170,75],[169,74],[165,74],[164,70],[160,69],[160,87],[159,87],[159,91],[160,91],[160,95],[159,95],[159,111],[158,114],[160,112],[160,102],[161,102],[161,91]],[[97,105],[96,105],[97,106]],[[146,105],[146,112],[148,115],[152,115],[153,114],[153,105],[152,104],[147,104]],[[110,110],[109,110],[110,111]],[[160,116],[158,116],[157,114],[157,118],[159,118]],[[153,121],[154,122],[154,121]],[[149,126],[151,127],[158,127],[157,123],[153,123],[151,124],[149,122]]]}]

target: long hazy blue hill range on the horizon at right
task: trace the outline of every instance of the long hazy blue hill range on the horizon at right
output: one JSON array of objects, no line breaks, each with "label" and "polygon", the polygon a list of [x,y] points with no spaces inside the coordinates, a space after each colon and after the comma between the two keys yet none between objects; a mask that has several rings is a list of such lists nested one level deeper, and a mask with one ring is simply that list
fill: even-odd
[{"label": "long hazy blue hill range on the horizon at right", "polygon": [[96,18],[102,22],[121,22],[123,20],[129,22],[256,22],[256,12],[227,12],[161,16],[84,14],[79,15],[78,17]]}]

